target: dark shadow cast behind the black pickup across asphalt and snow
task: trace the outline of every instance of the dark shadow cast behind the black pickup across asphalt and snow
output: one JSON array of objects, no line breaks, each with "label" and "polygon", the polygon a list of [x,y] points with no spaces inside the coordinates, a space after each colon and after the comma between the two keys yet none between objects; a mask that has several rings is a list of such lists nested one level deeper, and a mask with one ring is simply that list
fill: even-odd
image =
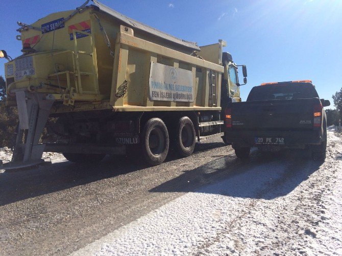
[{"label": "dark shadow cast behind the black pickup across asphalt and snow", "polygon": [[[150,192],[199,192],[274,199],[290,193],[321,165],[311,160],[309,152],[303,150],[274,153],[255,150],[247,162],[219,158],[186,171]],[[208,186],[199,188],[199,184]]]}]

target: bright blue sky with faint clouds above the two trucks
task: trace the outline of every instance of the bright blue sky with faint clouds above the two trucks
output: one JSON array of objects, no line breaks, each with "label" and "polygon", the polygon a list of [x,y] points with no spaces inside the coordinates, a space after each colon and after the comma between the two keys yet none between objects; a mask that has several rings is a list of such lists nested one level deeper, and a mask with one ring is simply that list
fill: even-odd
[{"label": "bright blue sky with faint clouds above the two trucks", "polygon": [[[263,82],[312,80],[331,101],[342,87],[342,0],[102,0],[103,4],[200,46],[227,41],[225,52],[247,65],[246,100]],[[0,0],[0,49],[21,54],[16,21],[33,23],[83,1]],[[1,59],[0,65],[6,60]],[[0,75],[4,76],[4,66]],[[240,72],[241,73],[241,72]],[[242,81],[242,78],[240,78]]]}]

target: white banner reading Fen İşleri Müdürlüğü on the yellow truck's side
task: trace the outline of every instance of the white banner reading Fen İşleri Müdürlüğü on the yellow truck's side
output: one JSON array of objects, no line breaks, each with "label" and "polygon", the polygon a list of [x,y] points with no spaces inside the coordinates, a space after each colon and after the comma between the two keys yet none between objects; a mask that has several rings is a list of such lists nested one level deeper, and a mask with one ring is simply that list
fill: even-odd
[{"label": "white banner reading Fen \u0130\u015fleri M\u00fcd\u00fcrl\u00fc\u011f\u00fc on the yellow truck's side", "polygon": [[151,62],[150,99],[193,102],[192,71]]}]

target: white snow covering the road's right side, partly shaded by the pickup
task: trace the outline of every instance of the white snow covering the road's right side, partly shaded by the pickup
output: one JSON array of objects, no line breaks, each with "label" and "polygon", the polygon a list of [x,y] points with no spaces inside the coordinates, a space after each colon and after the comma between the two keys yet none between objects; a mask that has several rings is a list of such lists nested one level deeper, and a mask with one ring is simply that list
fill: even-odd
[{"label": "white snow covering the road's right side, partly shaded by the pickup", "polygon": [[341,142],[330,130],[322,165],[280,157],[245,166],[74,254],[342,255]]}]

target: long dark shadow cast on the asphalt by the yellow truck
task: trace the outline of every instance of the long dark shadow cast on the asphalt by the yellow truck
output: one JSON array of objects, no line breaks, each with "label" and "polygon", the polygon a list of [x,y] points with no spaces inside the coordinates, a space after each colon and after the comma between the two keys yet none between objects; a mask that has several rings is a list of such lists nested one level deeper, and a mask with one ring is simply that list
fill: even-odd
[{"label": "long dark shadow cast on the asphalt by the yellow truck", "polygon": [[[199,143],[194,154],[225,146],[222,142]],[[166,163],[178,160],[175,152],[170,152]],[[5,171],[0,173],[0,206],[72,187],[85,185],[121,174],[140,171],[158,171],[163,165],[149,167],[139,159],[127,156],[107,156],[97,164],[74,164],[68,161],[54,163],[39,168]]]}]

